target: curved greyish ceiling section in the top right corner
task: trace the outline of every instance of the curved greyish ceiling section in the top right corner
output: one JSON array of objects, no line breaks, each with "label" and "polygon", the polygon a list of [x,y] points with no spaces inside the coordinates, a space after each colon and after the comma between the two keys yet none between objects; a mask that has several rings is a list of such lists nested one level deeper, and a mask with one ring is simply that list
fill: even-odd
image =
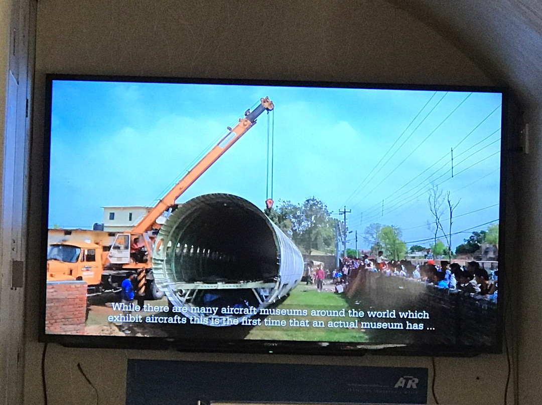
[{"label": "curved greyish ceiling section in the top right corner", "polygon": [[387,0],[454,43],[495,84],[542,106],[541,0]]}]

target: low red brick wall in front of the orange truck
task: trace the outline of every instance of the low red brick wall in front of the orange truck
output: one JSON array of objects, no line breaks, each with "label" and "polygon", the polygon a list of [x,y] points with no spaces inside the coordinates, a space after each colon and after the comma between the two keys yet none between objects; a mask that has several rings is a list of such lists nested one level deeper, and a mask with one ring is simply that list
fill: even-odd
[{"label": "low red brick wall in front of the orange truck", "polygon": [[47,334],[83,334],[87,309],[86,282],[48,281],[46,304]]}]

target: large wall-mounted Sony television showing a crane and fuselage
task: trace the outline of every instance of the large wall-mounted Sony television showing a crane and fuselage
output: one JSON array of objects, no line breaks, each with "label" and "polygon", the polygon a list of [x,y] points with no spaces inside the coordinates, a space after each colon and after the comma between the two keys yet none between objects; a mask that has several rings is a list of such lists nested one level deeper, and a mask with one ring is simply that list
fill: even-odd
[{"label": "large wall-mounted Sony television showing a crane and fuselage", "polygon": [[40,338],[500,351],[503,106],[496,88],[48,75]]}]

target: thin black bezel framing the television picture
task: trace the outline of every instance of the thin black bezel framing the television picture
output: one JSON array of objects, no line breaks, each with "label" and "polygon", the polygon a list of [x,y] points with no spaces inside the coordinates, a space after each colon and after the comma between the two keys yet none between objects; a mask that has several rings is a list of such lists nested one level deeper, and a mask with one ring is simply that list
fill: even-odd
[{"label": "thin black bezel framing the television picture", "polygon": [[[321,87],[321,88],[354,88],[383,90],[428,90],[450,92],[499,93],[502,95],[501,107],[501,153],[500,153],[500,201],[499,201],[499,272],[500,295],[498,299],[495,344],[488,345],[446,345],[436,348],[430,344],[410,344],[404,346],[382,347],[382,344],[359,344],[356,342],[312,342],[312,341],[269,341],[269,340],[198,340],[162,337],[135,336],[95,336],[95,335],[63,335],[46,334],[46,288],[47,270],[44,260],[47,257],[48,210],[49,210],[49,166],[51,141],[51,107],[53,81],[107,81],[107,82],[139,82],[139,83],[186,83],[186,84],[230,84],[243,86],[282,86],[282,87]],[[41,244],[40,255],[40,295],[38,341],[58,343],[66,347],[108,348],[108,349],[174,349],[187,352],[224,352],[247,354],[294,354],[294,355],[333,355],[360,356],[402,355],[402,356],[475,356],[478,354],[501,354],[504,334],[505,302],[509,299],[507,292],[505,267],[506,237],[506,165],[509,138],[509,89],[493,86],[459,86],[447,84],[402,84],[402,83],[365,83],[365,82],[332,82],[332,81],[294,81],[294,80],[260,80],[260,79],[214,79],[203,77],[154,77],[154,76],[122,76],[122,75],[80,75],[80,74],[46,74],[44,110],[44,142],[43,142],[43,182],[41,190]],[[375,348],[378,347],[378,348]]]}]

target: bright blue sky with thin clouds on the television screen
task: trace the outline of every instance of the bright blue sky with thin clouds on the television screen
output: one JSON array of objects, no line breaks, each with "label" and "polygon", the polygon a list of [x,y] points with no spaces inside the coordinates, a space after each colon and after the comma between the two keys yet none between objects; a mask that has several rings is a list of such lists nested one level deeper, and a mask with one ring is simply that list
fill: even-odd
[{"label": "bright blue sky with thin clouds on the television screen", "polygon": [[[274,200],[346,205],[358,248],[371,223],[431,238],[431,184],[459,201],[452,232],[498,219],[498,93],[55,81],[49,226],[89,228],[102,206],[153,205],[263,96],[275,104]],[[267,130],[262,114],[178,202],[221,192],[263,208]]]}]

